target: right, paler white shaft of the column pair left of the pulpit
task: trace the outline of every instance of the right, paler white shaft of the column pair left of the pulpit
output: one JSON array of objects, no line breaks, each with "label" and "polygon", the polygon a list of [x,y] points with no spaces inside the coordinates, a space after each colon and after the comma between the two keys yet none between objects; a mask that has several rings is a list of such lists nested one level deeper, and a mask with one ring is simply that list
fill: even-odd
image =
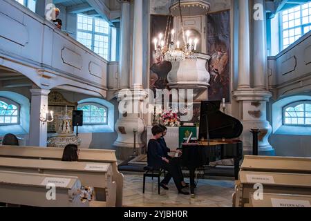
[{"label": "right, paler white shaft of the column pair left of the pulpit", "polygon": [[132,88],[142,88],[142,0],[135,0],[134,7]]}]

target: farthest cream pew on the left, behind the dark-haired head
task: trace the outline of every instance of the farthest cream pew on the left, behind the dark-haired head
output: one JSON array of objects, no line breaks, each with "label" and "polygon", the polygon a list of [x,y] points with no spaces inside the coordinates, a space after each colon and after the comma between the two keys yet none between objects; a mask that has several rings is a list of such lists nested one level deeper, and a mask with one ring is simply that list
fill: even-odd
[{"label": "farthest cream pew on the left, behind the dark-haired head", "polygon": [[[0,157],[19,157],[40,160],[61,160],[63,148],[41,148],[35,146],[0,146]],[[80,149],[79,162],[110,163],[113,181],[117,184],[116,206],[122,207],[123,174],[117,170],[117,158],[113,150]]]}]

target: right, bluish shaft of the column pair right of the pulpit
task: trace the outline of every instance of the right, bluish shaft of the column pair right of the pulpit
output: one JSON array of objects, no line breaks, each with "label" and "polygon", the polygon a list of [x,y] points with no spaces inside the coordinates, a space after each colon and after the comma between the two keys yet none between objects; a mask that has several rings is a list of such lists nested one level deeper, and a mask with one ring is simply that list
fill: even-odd
[{"label": "right, bluish shaft of the column pair right of the pulpit", "polygon": [[[263,6],[265,12],[265,1],[254,0],[254,5]],[[254,88],[265,89],[266,73],[266,41],[265,41],[265,13],[263,18],[254,18]]]}]

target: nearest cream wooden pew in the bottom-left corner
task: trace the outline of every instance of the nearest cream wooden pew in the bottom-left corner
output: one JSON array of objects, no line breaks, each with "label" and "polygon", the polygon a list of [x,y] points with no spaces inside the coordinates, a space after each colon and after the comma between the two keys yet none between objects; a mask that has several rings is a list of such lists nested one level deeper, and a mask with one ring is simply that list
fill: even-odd
[{"label": "nearest cream wooden pew in the bottom-left corner", "polygon": [[[55,200],[46,198],[49,182],[55,184]],[[0,202],[7,204],[87,207],[89,203],[80,200],[80,188],[77,177],[0,171]]]}]

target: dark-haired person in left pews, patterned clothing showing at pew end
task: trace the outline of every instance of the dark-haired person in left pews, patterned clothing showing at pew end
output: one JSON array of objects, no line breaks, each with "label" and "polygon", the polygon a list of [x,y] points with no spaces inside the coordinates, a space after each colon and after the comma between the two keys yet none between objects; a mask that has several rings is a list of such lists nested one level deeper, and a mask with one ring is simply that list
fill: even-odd
[{"label": "dark-haired person in left pews, patterned clothing showing at pew end", "polygon": [[[79,160],[79,149],[75,144],[68,144],[64,148],[62,161],[76,162]],[[80,198],[82,202],[95,200],[95,191],[91,186],[82,186]]]}]

